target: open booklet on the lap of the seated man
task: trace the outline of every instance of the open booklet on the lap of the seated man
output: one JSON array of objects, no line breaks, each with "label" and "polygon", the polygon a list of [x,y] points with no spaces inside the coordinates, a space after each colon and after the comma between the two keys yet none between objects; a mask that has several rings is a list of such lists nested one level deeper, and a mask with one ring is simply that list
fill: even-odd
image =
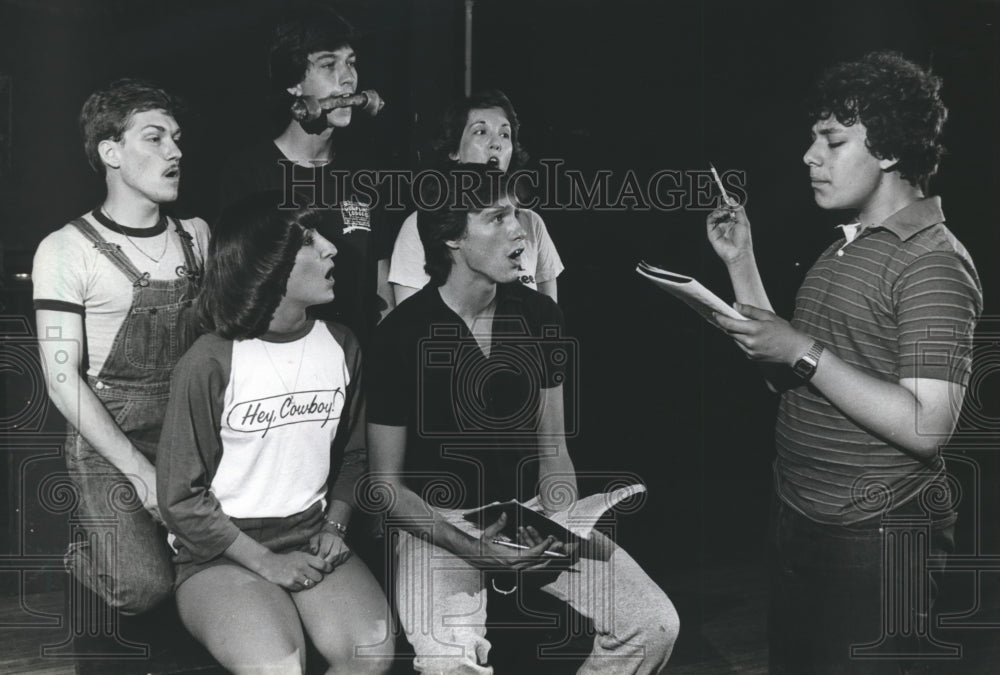
[{"label": "open booklet on the lap of the seated man", "polygon": [[558,541],[569,544],[579,539],[589,539],[594,525],[605,512],[619,502],[645,491],[645,485],[636,483],[610,492],[598,492],[589,497],[578,499],[568,509],[549,516],[536,510],[541,506],[538,503],[538,497],[534,497],[524,503],[513,499],[509,502],[493,502],[473,509],[463,517],[481,532],[495,523],[501,513],[506,513],[507,524],[499,534],[512,541],[517,540],[518,527],[530,525],[543,538],[551,534]]}]

